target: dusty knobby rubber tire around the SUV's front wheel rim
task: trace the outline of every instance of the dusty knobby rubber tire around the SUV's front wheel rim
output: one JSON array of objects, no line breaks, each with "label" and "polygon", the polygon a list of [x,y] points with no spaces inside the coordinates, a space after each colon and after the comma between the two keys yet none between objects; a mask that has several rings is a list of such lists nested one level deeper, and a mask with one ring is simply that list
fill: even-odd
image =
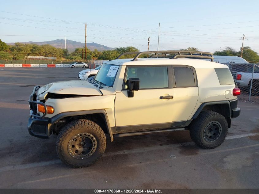
[{"label": "dusty knobby rubber tire around the SUV's front wheel rim", "polygon": [[[68,152],[69,140],[78,133],[90,133],[97,141],[97,148],[93,155],[86,159],[73,158]],[[56,151],[62,162],[73,168],[83,168],[99,160],[106,148],[105,133],[99,125],[91,120],[78,119],[66,124],[59,132],[56,141]]]}]

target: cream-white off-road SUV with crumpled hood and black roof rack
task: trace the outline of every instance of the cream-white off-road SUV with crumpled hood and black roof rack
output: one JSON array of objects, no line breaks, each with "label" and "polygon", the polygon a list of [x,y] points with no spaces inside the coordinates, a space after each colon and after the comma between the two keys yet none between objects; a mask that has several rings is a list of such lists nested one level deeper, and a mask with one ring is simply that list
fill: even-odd
[{"label": "cream-white off-road SUV with crumpled hood and black roof rack", "polygon": [[[200,147],[219,146],[231,119],[240,114],[240,89],[235,88],[226,65],[199,60],[213,61],[211,53],[186,52],[124,53],[136,56],[105,61],[93,81],[36,86],[29,100],[29,133],[39,138],[58,135],[57,154],[74,168],[89,166],[101,157],[105,133],[113,141],[114,137],[189,130]],[[138,58],[152,53],[156,58]]]}]

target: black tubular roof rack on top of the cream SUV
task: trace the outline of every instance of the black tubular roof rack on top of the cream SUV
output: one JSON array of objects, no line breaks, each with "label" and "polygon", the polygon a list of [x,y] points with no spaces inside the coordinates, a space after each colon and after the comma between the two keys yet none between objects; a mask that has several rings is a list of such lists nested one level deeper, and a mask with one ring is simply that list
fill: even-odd
[{"label": "black tubular roof rack on top of the cream SUV", "polygon": [[191,59],[211,59],[213,61],[213,56],[211,52],[201,52],[201,51],[143,51],[143,52],[124,52],[120,54],[116,59],[120,59],[122,55],[133,55],[136,54],[132,61],[135,61],[143,54],[154,54],[151,57],[162,57],[162,58],[191,58]]}]

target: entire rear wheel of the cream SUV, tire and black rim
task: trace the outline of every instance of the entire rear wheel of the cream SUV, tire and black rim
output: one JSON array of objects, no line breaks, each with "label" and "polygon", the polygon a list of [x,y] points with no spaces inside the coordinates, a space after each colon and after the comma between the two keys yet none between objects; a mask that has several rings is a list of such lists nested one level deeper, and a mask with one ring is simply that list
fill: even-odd
[{"label": "entire rear wheel of the cream SUV, tire and black rim", "polygon": [[226,118],[214,111],[203,111],[192,121],[190,136],[192,141],[204,149],[218,147],[227,136]]}]

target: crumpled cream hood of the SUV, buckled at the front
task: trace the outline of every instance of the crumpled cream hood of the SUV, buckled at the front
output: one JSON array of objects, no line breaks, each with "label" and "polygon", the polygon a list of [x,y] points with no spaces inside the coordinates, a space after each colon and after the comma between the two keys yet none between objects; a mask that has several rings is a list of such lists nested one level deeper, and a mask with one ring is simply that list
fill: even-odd
[{"label": "crumpled cream hood of the SUV, buckled at the front", "polygon": [[53,82],[40,87],[37,91],[39,99],[44,99],[47,93],[56,94],[76,94],[102,96],[99,88],[93,86],[85,80],[71,80],[62,82]]}]

